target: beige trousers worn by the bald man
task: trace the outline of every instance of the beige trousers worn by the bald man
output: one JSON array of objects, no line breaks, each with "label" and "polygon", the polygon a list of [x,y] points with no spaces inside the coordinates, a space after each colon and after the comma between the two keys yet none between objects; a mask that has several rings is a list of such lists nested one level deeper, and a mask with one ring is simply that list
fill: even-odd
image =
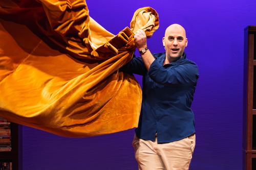
[{"label": "beige trousers worn by the bald man", "polygon": [[157,143],[151,140],[133,140],[135,158],[139,170],[187,170],[196,145],[196,135],[190,135],[182,140]]}]

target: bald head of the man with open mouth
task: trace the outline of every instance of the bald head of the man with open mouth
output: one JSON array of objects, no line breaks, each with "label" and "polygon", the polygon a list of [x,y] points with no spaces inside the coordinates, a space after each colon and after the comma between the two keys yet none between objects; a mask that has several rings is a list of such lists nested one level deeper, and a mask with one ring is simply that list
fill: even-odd
[{"label": "bald head of the man with open mouth", "polygon": [[163,46],[165,47],[166,57],[181,57],[187,46],[184,28],[177,24],[169,26],[163,37]]}]

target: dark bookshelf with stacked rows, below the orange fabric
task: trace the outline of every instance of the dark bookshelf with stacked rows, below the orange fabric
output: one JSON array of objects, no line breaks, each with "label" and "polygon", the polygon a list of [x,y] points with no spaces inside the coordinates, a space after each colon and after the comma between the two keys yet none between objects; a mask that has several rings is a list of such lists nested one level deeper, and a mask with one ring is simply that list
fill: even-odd
[{"label": "dark bookshelf with stacked rows, below the orange fabric", "polygon": [[0,118],[0,170],[21,170],[20,127]]}]

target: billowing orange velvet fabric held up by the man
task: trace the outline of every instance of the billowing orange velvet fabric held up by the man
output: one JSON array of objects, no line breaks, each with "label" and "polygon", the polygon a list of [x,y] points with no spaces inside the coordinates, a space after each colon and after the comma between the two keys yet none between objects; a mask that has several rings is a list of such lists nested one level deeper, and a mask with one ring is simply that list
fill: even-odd
[{"label": "billowing orange velvet fabric held up by the man", "polygon": [[134,54],[133,32],[158,26],[150,7],[113,35],[84,0],[1,0],[0,116],[70,137],[136,127],[141,89],[118,68]]}]

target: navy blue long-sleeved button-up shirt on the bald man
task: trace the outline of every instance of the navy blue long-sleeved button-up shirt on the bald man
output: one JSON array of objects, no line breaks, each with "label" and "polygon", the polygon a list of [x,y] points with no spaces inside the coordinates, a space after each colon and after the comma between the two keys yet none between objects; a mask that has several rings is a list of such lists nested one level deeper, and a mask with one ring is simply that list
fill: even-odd
[{"label": "navy blue long-sleeved button-up shirt on the bald man", "polygon": [[195,62],[186,54],[163,65],[165,53],[154,54],[147,71],[141,57],[134,57],[122,70],[143,75],[142,106],[136,135],[158,143],[173,142],[195,133],[193,95],[199,78]]}]

